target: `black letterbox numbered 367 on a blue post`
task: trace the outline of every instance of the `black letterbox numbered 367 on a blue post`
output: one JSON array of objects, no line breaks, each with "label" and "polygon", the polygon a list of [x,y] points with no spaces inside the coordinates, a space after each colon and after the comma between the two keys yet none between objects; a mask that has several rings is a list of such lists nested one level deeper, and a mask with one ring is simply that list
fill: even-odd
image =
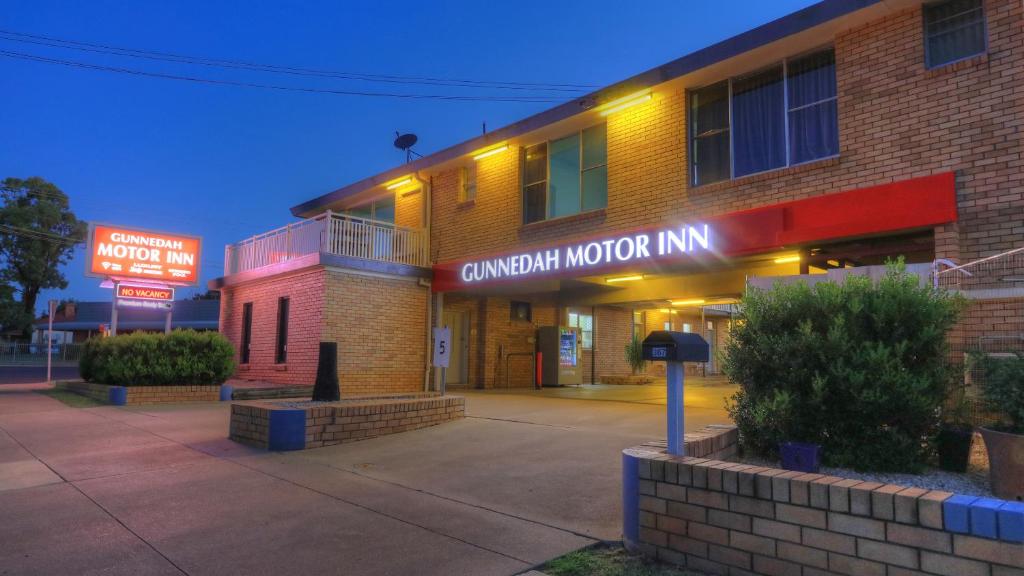
[{"label": "black letterbox numbered 367 on a blue post", "polygon": [[708,362],[708,341],[699,334],[655,330],[643,340],[643,359],[665,362],[669,453],[683,454],[683,363]]}]

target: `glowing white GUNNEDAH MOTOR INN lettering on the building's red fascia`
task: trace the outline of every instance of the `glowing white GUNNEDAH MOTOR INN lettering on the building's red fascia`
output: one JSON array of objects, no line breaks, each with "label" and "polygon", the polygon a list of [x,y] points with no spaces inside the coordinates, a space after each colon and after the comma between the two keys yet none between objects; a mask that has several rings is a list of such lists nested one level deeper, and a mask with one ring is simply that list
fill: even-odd
[{"label": "glowing white GUNNEDAH MOTOR INN lettering on the building's red fascia", "polygon": [[712,230],[708,224],[682,225],[654,232],[639,232],[607,239],[472,260],[459,269],[459,279],[466,284],[528,278],[556,271],[587,273],[609,264],[688,255],[712,249]]}]

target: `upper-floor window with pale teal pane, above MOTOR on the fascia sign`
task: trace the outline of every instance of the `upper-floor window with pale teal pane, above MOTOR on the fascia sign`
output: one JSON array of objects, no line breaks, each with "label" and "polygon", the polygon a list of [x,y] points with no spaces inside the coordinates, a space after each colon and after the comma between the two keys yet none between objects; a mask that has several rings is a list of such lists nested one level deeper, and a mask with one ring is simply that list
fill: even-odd
[{"label": "upper-floor window with pale teal pane, above MOTOR on the fascia sign", "polygon": [[526,148],[522,173],[525,223],[604,208],[607,125]]}]

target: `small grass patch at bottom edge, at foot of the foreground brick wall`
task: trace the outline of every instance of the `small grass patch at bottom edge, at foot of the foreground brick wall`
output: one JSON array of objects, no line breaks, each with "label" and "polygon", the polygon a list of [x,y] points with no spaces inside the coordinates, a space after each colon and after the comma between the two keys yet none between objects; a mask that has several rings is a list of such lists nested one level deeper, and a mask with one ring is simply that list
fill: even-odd
[{"label": "small grass patch at bottom edge, at foot of the foreground brick wall", "polygon": [[550,576],[700,576],[639,554],[622,546],[592,546],[558,557],[541,571]]}]

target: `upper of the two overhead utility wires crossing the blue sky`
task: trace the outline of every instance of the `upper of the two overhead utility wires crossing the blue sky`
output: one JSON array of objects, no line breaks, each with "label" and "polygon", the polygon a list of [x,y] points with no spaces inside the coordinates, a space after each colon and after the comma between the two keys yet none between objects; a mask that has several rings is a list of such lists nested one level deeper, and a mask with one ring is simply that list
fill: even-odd
[{"label": "upper of the two overhead utility wires crossing the blue sky", "polygon": [[259,64],[259,63],[252,63],[245,60],[231,60],[231,59],[212,58],[205,56],[190,56],[190,55],[176,54],[172,52],[141,50],[137,48],[123,48],[106,44],[95,44],[89,42],[67,40],[51,36],[24,34],[19,32],[13,32],[2,29],[0,29],[0,39],[12,42],[51,46],[56,48],[66,48],[66,49],[81,50],[86,52],[114,54],[114,55],[137,57],[137,58],[148,58],[162,61],[173,61],[179,64],[191,64],[200,66],[219,67],[219,68],[231,68],[231,69],[259,71],[259,72],[271,72],[276,74],[291,74],[298,76],[314,76],[324,78],[337,78],[343,80],[360,80],[366,82],[390,82],[398,84],[425,84],[425,85],[437,85],[437,86],[484,87],[484,88],[502,88],[509,90],[542,90],[542,91],[566,91],[566,92],[585,92],[598,87],[590,84],[558,84],[558,83],[543,83],[543,82],[510,82],[510,81],[498,81],[498,80],[467,80],[467,79],[457,79],[457,78],[435,78],[428,76],[396,76],[396,75],[384,75],[384,74],[340,72],[333,70],[318,70],[310,68]]}]

